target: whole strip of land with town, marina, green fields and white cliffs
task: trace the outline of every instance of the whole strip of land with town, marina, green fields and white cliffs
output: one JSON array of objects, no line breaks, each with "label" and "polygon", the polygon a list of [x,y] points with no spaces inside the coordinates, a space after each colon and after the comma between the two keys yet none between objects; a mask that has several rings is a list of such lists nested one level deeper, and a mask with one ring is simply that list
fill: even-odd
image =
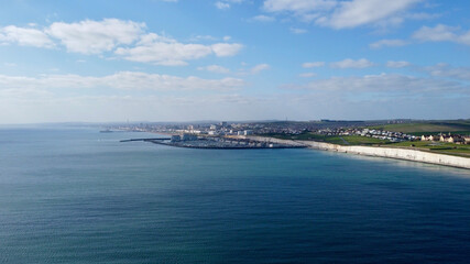
[{"label": "whole strip of land with town, marina, green fields and white cliffs", "polygon": [[155,144],[192,148],[309,147],[470,169],[470,119],[140,123],[107,128],[166,135]]}]

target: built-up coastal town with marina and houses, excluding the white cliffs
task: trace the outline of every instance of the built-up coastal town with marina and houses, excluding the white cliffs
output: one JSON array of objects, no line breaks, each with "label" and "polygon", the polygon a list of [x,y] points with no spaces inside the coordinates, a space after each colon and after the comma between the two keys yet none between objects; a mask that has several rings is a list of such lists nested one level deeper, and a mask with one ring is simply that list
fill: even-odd
[{"label": "built-up coastal town with marina and houses, excluding the white cliffs", "polygon": [[[296,147],[272,142],[256,142],[253,136],[272,139],[318,141],[343,145],[383,145],[411,142],[441,142],[459,145],[470,144],[470,132],[400,132],[384,128],[412,125],[412,120],[384,121],[335,121],[319,120],[308,122],[266,121],[266,122],[200,122],[200,123],[139,123],[107,127],[107,131],[133,131],[166,134],[168,144],[198,148],[276,148]],[[434,143],[435,144],[435,143]]]}]

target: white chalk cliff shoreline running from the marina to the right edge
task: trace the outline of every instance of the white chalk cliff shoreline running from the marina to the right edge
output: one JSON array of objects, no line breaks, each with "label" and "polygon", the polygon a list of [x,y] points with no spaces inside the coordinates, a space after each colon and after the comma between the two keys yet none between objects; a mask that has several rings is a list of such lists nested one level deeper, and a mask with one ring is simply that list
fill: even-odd
[{"label": "white chalk cliff shoreline running from the marina to the right edge", "polygon": [[316,142],[316,141],[280,140],[274,138],[256,136],[256,135],[244,136],[244,138],[254,140],[254,141],[271,141],[271,142],[278,142],[278,143],[307,145],[309,148],[314,148],[314,150],[335,151],[335,152],[351,153],[351,154],[364,155],[364,156],[387,157],[387,158],[429,163],[429,164],[436,164],[436,165],[442,165],[442,166],[470,169],[470,158],[437,154],[437,153],[428,153],[428,152],[423,152],[417,150],[383,147],[383,146],[337,145],[337,144]]}]

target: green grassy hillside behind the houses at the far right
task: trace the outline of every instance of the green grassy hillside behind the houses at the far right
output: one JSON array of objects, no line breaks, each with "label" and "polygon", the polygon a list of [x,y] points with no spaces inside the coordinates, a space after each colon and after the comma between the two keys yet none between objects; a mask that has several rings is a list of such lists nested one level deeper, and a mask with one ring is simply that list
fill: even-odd
[{"label": "green grassy hillside behind the houses at the far right", "polygon": [[400,123],[400,124],[384,124],[371,127],[371,129],[381,129],[393,132],[403,132],[415,135],[428,135],[436,133],[459,133],[470,134],[470,121],[429,121],[429,122],[416,122],[416,123]]}]

